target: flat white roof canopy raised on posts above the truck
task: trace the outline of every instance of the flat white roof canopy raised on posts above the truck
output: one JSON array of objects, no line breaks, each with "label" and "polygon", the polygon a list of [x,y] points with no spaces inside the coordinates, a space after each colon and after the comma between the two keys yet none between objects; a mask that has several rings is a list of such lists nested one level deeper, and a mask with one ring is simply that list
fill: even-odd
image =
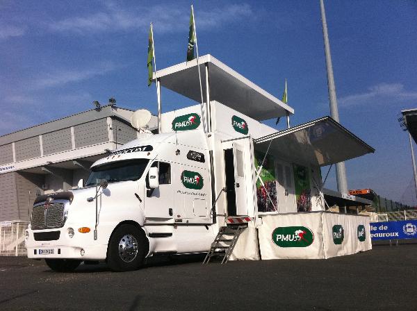
[{"label": "flat white roof canopy raised on posts above the truck", "polygon": [[[199,57],[204,101],[206,101],[205,64],[208,64],[210,101],[218,101],[258,121],[283,117],[287,112],[294,113],[293,108],[286,103],[209,54]],[[167,89],[197,102],[201,101],[197,59],[161,69],[156,75],[154,74],[154,78],[160,78],[161,85]]]}]

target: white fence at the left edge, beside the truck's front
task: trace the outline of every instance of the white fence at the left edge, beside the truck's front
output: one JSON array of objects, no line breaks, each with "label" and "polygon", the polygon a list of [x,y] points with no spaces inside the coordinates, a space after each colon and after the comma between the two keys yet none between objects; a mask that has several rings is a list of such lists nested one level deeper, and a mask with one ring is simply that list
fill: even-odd
[{"label": "white fence at the left edge, beside the truck's front", "polygon": [[1,221],[0,222],[0,255],[24,256],[24,233],[28,227],[27,221]]}]

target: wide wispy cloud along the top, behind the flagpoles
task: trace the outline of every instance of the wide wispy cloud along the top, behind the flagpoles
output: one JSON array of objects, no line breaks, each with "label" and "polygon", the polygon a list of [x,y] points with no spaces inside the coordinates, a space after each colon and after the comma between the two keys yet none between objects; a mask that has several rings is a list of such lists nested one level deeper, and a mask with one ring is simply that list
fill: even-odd
[{"label": "wide wispy cloud along the top, behind the flagpoles", "polygon": [[[144,8],[119,8],[114,3],[107,3],[101,12],[80,17],[68,17],[52,22],[49,29],[59,33],[103,33],[117,31],[148,31],[149,22],[154,22],[158,33],[171,33],[188,26],[189,10],[180,10],[177,6],[151,6]],[[195,10],[197,28],[217,28],[221,24],[236,22],[254,15],[250,5],[229,4],[209,11]]]}]

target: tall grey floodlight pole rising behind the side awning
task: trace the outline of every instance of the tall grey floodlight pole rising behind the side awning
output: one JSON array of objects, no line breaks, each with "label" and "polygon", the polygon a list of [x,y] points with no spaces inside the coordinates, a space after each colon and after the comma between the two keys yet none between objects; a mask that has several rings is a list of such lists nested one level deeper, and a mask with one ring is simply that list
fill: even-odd
[{"label": "tall grey floodlight pole rising behind the side awning", "polygon": [[[327,67],[327,85],[329,87],[330,115],[339,122],[336,87],[334,86],[332,55],[330,54],[329,34],[327,33],[327,22],[325,13],[325,4],[320,0],[320,11],[322,17],[323,39],[325,41],[325,55]],[[336,180],[338,192],[347,193],[347,178],[345,162],[336,163]]]}]

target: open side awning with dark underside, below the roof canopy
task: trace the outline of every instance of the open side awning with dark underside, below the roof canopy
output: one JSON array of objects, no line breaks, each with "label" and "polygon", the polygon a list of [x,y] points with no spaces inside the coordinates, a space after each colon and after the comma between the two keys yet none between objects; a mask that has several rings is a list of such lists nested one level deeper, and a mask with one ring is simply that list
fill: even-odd
[{"label": "open side awning with dark underside, below the roof canopy", "polygon": [[279,155],[283,160],[332,165],[357,158],[375,149],[331,117],[322,117],[254,140],[258,149]]}]

